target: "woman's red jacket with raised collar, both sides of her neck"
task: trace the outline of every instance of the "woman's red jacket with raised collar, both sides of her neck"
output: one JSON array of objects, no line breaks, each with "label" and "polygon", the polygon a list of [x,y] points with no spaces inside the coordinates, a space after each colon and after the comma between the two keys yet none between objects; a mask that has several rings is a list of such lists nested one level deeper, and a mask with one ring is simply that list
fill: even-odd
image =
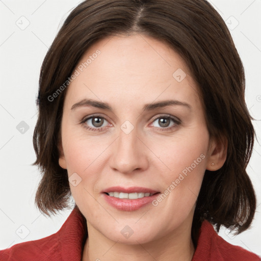
[{"label": "woman's red jacket with raised collar, both sides of her neck", "polygon": [[[1,250],[0,261],[81,261],[86,232],[85,220],[74,208],[58,232]],[[202,223],[192,261],[260,260],[257,255],[227,243],[209,222]]]}]

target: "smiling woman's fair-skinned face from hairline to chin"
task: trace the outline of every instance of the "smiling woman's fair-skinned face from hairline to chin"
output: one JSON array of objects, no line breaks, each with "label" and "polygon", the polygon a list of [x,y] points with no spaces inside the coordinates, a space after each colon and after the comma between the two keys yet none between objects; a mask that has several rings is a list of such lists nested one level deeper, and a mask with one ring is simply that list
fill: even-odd
[{"label": "smiling woman's fair-skinned face from hairline to chin", "polygon": [[75,69],[59,164],[88,230],[137,244],[191,228],[215,145],[184,61],[137,34],[100,40]]}]

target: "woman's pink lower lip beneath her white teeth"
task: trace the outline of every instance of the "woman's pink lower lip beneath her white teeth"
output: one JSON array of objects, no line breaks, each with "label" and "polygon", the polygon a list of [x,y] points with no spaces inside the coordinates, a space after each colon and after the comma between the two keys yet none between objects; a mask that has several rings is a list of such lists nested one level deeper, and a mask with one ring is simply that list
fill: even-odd
[{"label": "woman's pink lower lip beneath her white teeth", "polygon": [[126,199],[126,198],[116,198],[103,193],[105,200],[117,210],[122,211],[135,211],[139,210],[139,208],[145,206],[146,204],[152,202],[156,197],[158,197],[160,193],[156,193],[149,197],[137,198],[137,199]]}]

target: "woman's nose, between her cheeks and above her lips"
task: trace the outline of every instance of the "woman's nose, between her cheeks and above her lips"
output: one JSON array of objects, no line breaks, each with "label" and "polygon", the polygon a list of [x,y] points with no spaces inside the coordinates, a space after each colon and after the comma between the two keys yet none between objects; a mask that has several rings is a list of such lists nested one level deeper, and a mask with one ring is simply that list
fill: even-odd
[{"label": "woman's nose, between her cheeks and above her lips", "polygon": [[120,130],[112,147],[110,166],[124,174],[143,171],[148,168],[147,153],[135,129],[129,134]]}]

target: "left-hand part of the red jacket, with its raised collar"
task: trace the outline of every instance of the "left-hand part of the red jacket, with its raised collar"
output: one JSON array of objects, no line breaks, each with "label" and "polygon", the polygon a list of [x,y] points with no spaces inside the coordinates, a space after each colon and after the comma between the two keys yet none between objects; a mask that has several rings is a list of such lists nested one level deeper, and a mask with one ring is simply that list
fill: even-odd
[{"label": "left-hand part of the red jacket, with its raised collar", "polygon": [[50,236],[16,244],[0,251],[1,261],[73,261],[81,260],[88,237],[86,219],[77,206],[59,231]]}]

